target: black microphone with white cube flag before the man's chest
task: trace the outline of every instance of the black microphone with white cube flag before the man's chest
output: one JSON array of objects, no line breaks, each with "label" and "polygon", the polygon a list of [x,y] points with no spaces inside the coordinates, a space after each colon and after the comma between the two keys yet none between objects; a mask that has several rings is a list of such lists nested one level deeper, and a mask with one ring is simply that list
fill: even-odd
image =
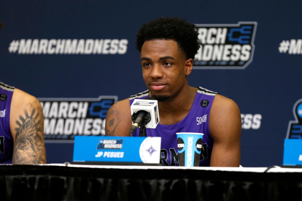
[{"label": "black microphone with white cube flag before the man's chest", "polygon": [[[133,109],[133,105],[136,106],[136,109],[139,108],[139,110],[136,112],[133,112],[131,118],[132,118],[132,126],[130,129],[130,136],[132,136],[132,133],[136,131],[138,127],[145,127],[150,121],[151,121],[151,114],[152,109],[154,108],[154,104],[150,104],[149,101],[144,100],[156,100],[153,97],[147,97],[144,99],[136,99],[133,101],[131,108]],[[157,100],[156,100],[157,105]],[[154,109],[153,109],[154,110]],[[145,128],[144,128],[145,129]]]}]

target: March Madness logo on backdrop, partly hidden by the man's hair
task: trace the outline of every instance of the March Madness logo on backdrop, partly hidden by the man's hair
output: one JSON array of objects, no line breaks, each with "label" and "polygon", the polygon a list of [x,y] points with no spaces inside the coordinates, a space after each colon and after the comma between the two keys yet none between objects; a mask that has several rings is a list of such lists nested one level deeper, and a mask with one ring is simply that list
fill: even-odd
[{"label": "March Madness logo on backdrop, partly hidden by the man's hair", "polygon": [[244,69],[252,62],[257,22],[196,26],[201,45],[194,69]]}]

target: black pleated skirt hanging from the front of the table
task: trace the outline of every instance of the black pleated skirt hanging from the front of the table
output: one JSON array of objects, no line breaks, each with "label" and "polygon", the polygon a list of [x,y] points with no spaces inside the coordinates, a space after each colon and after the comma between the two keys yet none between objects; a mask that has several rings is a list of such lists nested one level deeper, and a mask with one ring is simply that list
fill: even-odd
[{"label": "black pleated skirt hanging from the front of the table", "polygon": [[302,173],[0,166],[0,200],[302,200]]}]

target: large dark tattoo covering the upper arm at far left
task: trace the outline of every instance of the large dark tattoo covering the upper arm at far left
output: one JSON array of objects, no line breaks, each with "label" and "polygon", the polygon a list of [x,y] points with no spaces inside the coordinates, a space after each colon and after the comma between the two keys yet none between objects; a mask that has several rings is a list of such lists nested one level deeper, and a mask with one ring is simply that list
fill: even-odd
[{"label": "large dark tattoo covering the upper arm at far left", "polygon": [[16,120],[13,163],[46,163],[43,111],[38,100],[27,106],[29,110],[24,110],[24,115],[19,115],[19,120]]}]

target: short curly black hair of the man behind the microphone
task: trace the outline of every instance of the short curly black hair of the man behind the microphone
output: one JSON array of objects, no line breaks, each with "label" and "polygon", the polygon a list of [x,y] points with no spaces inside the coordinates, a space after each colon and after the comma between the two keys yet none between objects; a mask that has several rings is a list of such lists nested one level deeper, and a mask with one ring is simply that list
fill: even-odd
[{"label": "short curly black hair of the man behind the microphone", "polygon": [[142,50],[145,41],[173,40],[178,43],[186,59],[192,58],[194,60],[200,47],[196,25],[178,17],[160,17],[143,24],[136,36],[136,48],[139,51]]}]

